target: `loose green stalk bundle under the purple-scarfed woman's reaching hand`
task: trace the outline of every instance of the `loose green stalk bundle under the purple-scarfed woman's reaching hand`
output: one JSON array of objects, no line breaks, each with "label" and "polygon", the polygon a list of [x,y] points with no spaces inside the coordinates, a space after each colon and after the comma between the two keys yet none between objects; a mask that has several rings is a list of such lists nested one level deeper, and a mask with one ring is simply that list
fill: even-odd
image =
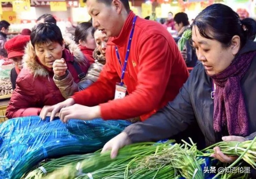
[{"label": "loose green stalk bundle under the purple-scarfed woman's reaching hand", "polygon": [[174,144],[171,141],[139,143],[119,150],[115,159],[110,152],[95,153],[92,157],[55,170],[46,179],[203,179],[201,164],[204,159],[196,157],[196,145]]}]

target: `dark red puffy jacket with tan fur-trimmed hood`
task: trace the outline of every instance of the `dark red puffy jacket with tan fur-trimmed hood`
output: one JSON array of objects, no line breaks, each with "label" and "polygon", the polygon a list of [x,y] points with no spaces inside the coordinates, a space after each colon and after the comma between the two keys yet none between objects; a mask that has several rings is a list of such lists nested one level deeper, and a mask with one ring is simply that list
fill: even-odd
[{"label": "dark red puffy jacket with tan fur-trimmed hood", "polygon": [[[63,58],[74,81],[77,83],[80,79],[72,61],[76,60],[80,64],[81,70],[85,73],[89,68],[89,62],[85,61],[84,55],[74,42],[68,44],[68,48],[69,50],[64,49]],[[23,57],[24,68],[22,68],[17,77],[16,89],[13,91],[6,110],[6,116],[9,119],[39,115],[43,106],[55,105],[65,100],[53,81],[53,72],[47,71],[38,62],[31,43],[29,43],[25,51],[26,54]]]}]

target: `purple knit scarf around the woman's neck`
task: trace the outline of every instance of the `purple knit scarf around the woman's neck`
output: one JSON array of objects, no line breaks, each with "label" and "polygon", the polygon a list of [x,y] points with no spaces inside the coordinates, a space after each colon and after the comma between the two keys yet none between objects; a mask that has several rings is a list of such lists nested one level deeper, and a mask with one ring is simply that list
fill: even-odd
[{"label": "purple knit scarf around the woman's neck", "polygon": [[256,51],[239,55],[223,72],[210,76],[216,84],[214,94],[213,129],[229,135],[247,136],[249,122],[240,80],[251,65]]}]

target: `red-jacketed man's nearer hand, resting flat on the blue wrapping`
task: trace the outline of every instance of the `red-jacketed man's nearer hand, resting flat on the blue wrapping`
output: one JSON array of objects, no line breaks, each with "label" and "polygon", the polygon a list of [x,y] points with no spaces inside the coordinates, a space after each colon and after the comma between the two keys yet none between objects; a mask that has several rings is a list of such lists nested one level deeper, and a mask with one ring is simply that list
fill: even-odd
[{"label": "red-jacketed man's nearer hand, resting flat on the blue wrapping", "polygon": [[69,119],[91,120],[101,117],[100,107],[87,107],[80,104],[64,107],[60,110],[60,120],[67,123]]}]

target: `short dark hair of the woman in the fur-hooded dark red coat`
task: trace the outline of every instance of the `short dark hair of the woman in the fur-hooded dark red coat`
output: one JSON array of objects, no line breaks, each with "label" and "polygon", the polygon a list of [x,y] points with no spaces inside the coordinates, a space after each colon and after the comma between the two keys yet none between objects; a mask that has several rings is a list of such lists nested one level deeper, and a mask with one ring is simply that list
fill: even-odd
[{"label": "short dark hair of the woman in the fur-hooded dark red coat", "polygon": [[40,23],[31,31],[30,40],[33,45],[48,42],[57,42],[63,45],[63,37],[60,28],[54,23]]}]

